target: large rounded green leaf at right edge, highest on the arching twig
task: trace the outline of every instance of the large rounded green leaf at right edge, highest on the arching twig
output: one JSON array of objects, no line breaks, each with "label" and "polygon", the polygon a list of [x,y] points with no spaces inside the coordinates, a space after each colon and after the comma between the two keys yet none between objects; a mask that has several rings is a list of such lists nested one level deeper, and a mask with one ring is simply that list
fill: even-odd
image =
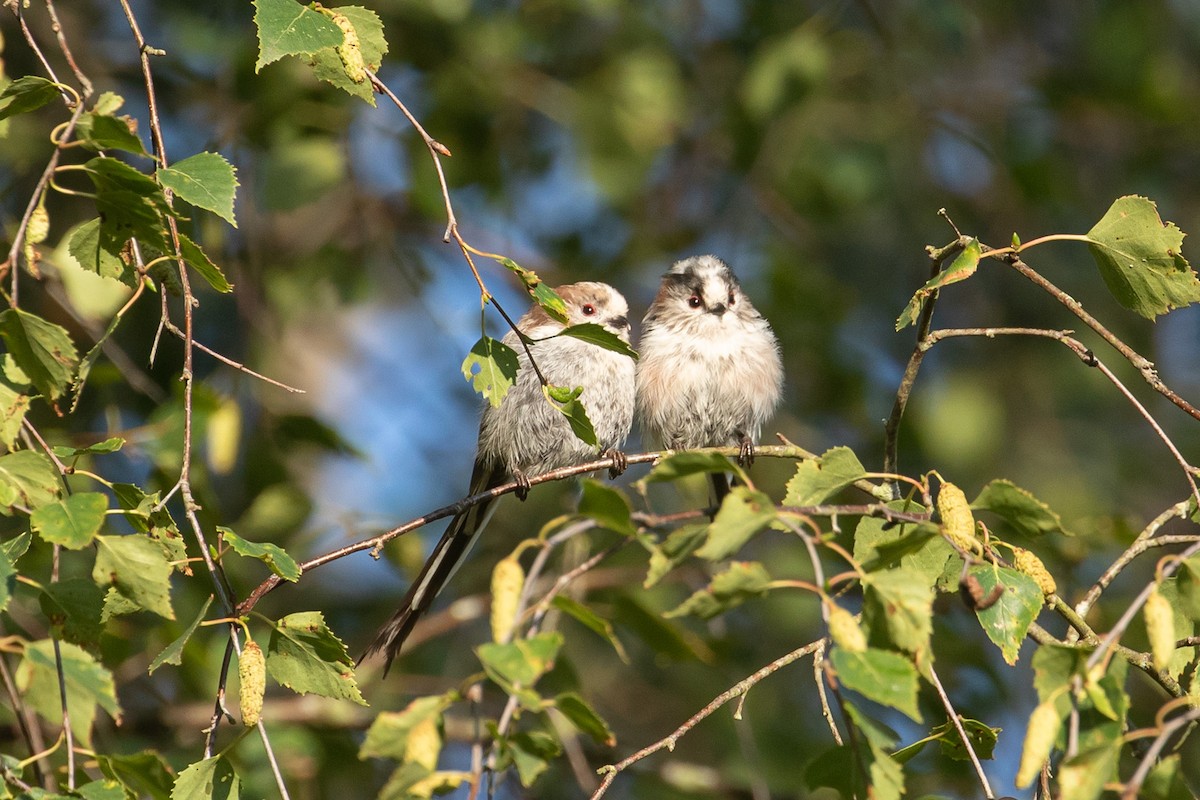
[{"label": "large rounded green leaf at right edge, highest on the arching twig", "polygon": [[1117,199],[1087,231],[1088,249],[1117,302],[1146,319],[1200,300],[1200,279],[1183,258],[1183,231],[1163,223],[1158,206]]}]

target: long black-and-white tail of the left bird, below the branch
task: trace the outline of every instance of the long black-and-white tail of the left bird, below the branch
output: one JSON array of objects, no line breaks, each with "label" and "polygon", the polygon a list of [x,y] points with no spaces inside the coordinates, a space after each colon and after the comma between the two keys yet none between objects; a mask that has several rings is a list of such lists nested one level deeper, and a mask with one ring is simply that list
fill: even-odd
[{"label": "long black-and-white tail of the left bird, below the branch", "polygon": [[[475,467],[476,474],[472,476],[472,494],[478,494],[503,482],[504,475],[481,475],[479,464]],[[433,604],[438,593],[449,583],[467,553],[470,552],[475,540],[484,533],[484,528],[492,518],[493,504],[494,500],[485,500],[450,521],[450,527],[442,535],[438,546],[433,548],[433,554],[421,567],[420,575],[413,581],[413,585],[401,601],[400,608],[379,628],[379,633],[364,651],[359,663],[382,650],[384,655],[383,674],[386,676],[388,670],[391,669],[392,660],[400,655],[401,648],[404,646],[404,639],[413,631],[413,626]]]}]

